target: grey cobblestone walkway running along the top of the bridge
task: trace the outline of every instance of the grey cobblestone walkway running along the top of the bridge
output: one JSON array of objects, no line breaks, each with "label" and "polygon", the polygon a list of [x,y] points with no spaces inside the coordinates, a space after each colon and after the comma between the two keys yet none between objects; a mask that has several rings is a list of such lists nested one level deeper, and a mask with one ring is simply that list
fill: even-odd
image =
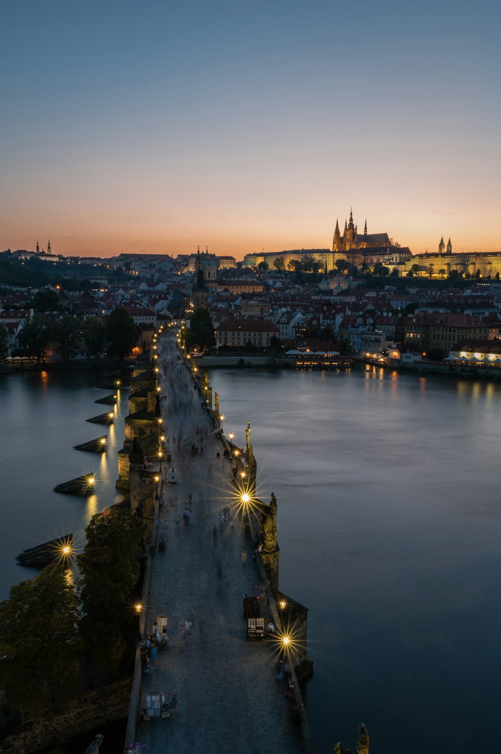
[{"label": "grey cobblestone walkway running along the top of the bridge", "polygon": [[[228,459],[188,369],[176,360],[174,343],[170,334],[164,336],[159,350],[163,418],[177,483],[163,486],[160,527],[166,551],[153,558],[146,621],[151,631],[157,615],[168,616],[171,647],[158,652],[156,667],[143,673],[141,706],[147,692],[160,691],[166,700],[176,693],[179,714],[138,728],[136,739],[144,746],[139,751],[295,754],[302,745],[288,719],[285,681],[275,678],[274,642],[246,639],[243,594],[251,595],[259,585],[240,521],[219,520],[231,492]],[[192,456],[197,439],[203,455]],[[185,526],[188,495],[193,519]],[[178,630],[188,618],[193,630],[183,648]]]}]

